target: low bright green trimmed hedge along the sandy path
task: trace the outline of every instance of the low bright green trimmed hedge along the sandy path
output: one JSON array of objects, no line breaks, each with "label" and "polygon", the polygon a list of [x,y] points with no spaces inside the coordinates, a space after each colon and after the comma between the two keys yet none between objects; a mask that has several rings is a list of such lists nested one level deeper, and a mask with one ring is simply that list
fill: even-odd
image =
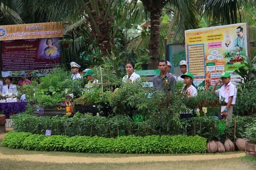
[{"label": "low bright green trimmed hedge along the sandy path", "polygon": [[84,153],[205,153],[206,138],[185,135],[120,136],[117,138],[64,135],[35,135],[10,132],[4,147],[26,150],[70,151]]}]

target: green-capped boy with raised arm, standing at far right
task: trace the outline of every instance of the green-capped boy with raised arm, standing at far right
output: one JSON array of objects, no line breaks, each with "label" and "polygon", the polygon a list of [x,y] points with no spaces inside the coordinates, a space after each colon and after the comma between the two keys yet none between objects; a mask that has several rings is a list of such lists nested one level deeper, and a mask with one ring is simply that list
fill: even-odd
[{"label": "green-capped boy with raised arm, standing at far right", "polygon": [[221,113],[218,115],[219,119],[230,119],[232,118],[233,105],[236,104],[236,87],[231,83],[230,73],[223,72],[220,76],[221,80],[217,80],[212,88],[215,91],[218,83],[222,81],[224,84],[220,89],[215,92],[219,95],[219,100],[225,98],[224,104],[221,104]]}]

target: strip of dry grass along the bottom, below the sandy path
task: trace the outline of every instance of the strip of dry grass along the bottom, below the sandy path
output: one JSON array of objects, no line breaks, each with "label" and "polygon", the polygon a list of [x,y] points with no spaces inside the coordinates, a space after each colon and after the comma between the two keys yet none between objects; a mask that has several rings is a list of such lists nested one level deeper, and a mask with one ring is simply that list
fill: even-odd
[{"label": "strip of dry grass along the bottom, below the sandy path", "polygon": [[1,170],[255,170],[255,158],[242,157],[213,161],[168,161],[143,163],[41,163],[2,159]]}]

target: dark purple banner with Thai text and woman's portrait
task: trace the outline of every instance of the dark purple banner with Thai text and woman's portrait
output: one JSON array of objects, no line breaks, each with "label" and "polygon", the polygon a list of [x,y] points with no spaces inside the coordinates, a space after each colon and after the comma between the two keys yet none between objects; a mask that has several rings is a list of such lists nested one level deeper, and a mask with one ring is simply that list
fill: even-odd
[{"label": "dark purple banner with Thai text and woman's portrait", "polygon": [[61,47],[58,42],[59,38],[2,41],[1,69],[52,69],[61,64]]}]

